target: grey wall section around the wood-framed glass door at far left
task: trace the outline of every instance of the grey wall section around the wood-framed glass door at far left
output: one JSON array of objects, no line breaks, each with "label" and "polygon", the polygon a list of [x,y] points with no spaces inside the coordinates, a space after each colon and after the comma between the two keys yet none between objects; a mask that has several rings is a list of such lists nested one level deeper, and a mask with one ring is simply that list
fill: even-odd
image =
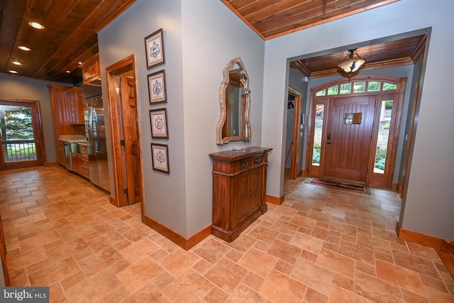
[{"label": "grey wall section around the wood-framed glass door at far left", "polygon": [[[0,75],[0,99],[3,97],[40,101],[46,158],[48,162],[57,162],[54,126],[52,124],[52,106],[50,104],[50,93],[48,89],[49,84],[51,82]],[[61,85],[61,83],[57,84]]]}]

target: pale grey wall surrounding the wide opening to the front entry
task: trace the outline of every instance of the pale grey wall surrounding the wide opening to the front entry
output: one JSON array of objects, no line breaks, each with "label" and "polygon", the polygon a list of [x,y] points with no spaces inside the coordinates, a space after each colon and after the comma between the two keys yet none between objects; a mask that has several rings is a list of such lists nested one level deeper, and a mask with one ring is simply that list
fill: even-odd
[{"label": "pale grey wall surrounding the wide opening to the front entry", "polygon": [[[421,91],[421,111],[413,162],[409,171],[402,227],[454,239],[454,102],[450,99],[454,50],[454,1],[401,0],[354,16],[292,33],[265,43],[262,145],[274,148],[268,170],[267,194],[283,193],[283,97],[286,60],[289,57],[362,43],[389,35],[433,27],[426,74]],[[349,35],[355,31],[354,35]],[[292,45],[292,48],[289,48]],[[443,160],[438,160],[443,159]]]}]

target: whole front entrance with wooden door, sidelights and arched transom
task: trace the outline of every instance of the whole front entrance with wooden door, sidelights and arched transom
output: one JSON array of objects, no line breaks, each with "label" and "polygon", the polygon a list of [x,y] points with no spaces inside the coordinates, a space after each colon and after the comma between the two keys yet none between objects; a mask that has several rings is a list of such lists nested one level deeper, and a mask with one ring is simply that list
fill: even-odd
[{"label": "whole front entrance with wooden door, sidelights and arched transom", "polygon": [[405,84],[363,76],[312,89],[309,175],[392,189]]}]

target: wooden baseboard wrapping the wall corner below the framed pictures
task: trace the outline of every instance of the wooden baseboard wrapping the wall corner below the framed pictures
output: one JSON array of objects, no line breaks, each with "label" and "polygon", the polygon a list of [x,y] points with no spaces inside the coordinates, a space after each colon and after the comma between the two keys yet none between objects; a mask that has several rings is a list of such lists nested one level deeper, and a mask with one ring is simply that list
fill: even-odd
[{"label": "wooden baseboard wrapping the wall corner below the framed pictures", "polygon": [[211,235],[211,224],[194,233],[194,235],[190,236],[189,238],[184,238],[184,236],[180,235],[176,231],[172,231],[172,229],[160,224],[154,219],[151,219],[149,216],[143,215],[143,223],[146,226],[153,228],[162,236],[165,236],[165,238],[177,244],[177,246],[183,248],[184,250],[193,248],[197,243]]}]

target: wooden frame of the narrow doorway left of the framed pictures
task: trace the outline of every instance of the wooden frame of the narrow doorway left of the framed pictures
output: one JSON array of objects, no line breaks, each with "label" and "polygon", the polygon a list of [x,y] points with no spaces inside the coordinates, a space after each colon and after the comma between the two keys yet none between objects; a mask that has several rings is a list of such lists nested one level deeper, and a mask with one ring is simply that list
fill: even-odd
[{"label": "wooden frame of the narrow doorway left of the framed pictures", "polygon": [[[113,177],[114,177],[114,192],[115,198],[114,201],[111,199],[111,203],[117,207],[128,205],[128,193],[125,190],[127,188],[126,181],[126,169],[124,163],[125,155],[123,153],[123,130],[121,125],[121,102],[119,96],[119,87],[118,87],[118,78],[121,77],[125,72],[132,72],[134,79],[137,78],[135,71],[135,55],[130,55],[129,57],[124,58],[121,61],[106,67],[106,79],[107,79],[107,104],[109,111],[110,119],[110,130],[111,130],[111,146],[112,146],[112,167],[113,167]],[[135,86],[135,96],[138,96],[137,85]],[[140,104],[137,106],[137,119],[136,123],[138,124],[138,153],[140,158],[140,183],[142,187],[142,197],[141,197],[141,208],[143,214],[143,165],[142,162],[142,148],[140,146]]]}]

